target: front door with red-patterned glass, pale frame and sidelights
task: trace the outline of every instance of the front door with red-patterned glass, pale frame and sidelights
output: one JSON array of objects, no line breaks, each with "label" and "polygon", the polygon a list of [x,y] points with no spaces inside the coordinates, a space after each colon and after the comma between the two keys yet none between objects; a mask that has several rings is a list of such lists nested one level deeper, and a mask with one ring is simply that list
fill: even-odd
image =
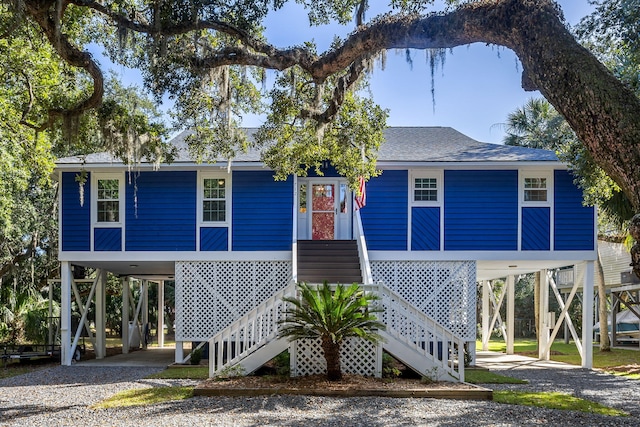
[{"label": "front door with red-patterned glass, pale frame and sidelights", "polygon": [[345,180],[300,178],[298,239],[350,239],[350,196]]}]

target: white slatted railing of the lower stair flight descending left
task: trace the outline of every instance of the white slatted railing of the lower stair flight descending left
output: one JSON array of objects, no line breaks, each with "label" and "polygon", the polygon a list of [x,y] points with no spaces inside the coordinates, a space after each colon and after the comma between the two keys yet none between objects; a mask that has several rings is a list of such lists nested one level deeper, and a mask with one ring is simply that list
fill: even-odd
[{"label": "white slatted railing of the lower stair flight descending left", "polygon": [[234,321],[209,339],[209,376],[238,364],[259,348],[278,338],[278,322],[286,311],[285,297],[296,295],[291,281],[284,289]]}]

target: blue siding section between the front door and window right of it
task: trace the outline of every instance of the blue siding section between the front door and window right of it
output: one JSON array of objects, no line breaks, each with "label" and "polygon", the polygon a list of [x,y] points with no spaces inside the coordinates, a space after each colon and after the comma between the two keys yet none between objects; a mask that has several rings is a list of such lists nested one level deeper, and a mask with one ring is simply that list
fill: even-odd
[{"label": "blue siding section between the front door and window right of it", "polygon": [[407,171],[387,170],[367,183],[360,215],[368,249],[407,250],[407,179]]}]

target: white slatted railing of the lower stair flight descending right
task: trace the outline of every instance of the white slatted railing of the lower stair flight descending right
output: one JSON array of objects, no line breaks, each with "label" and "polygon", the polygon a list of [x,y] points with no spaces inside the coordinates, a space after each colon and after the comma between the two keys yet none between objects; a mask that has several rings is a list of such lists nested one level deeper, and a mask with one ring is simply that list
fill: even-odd
[{"label": "white slatted railing of the lower stair flight descending right", "polygon": [[461,337],[438,324],[421,312],[397,292],[382,282],[371,286],[381,299],[384,312],[381,321],[386,325],[385,335],[404,344],[406,350],[424,357],[434,372],[420,372],[436,379],[450,377],[464,381],[464,341]]}]

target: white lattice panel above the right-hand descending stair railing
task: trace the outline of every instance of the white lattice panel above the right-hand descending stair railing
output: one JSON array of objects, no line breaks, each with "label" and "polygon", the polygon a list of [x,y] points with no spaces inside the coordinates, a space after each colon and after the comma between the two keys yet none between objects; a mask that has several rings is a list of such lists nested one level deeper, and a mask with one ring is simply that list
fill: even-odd
[{"label": "white lattice panel above the right-hand descending stair railing", "polygon": [[424,314],[466,341],[476,339],[474,261],[372,261],[383,282]]}]

